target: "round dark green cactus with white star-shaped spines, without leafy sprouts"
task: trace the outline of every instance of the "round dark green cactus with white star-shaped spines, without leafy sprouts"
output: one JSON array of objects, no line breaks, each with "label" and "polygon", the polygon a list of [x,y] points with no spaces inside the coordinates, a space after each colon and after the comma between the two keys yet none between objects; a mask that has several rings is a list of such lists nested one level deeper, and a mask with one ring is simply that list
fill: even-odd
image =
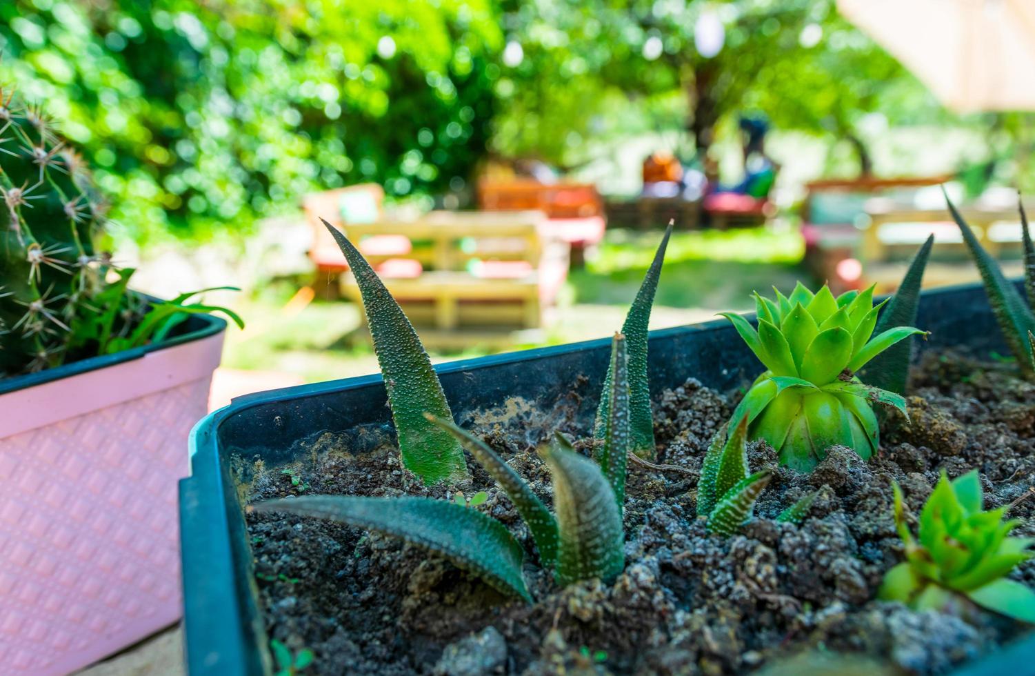
[{"label": "round dark green cactus with white star-shaped spines, without leafy sprouts", "polygon": [[0,88],[0,371],[60,363],[105,289],[93,246],[102,206],[82,157],[52,120]]}]

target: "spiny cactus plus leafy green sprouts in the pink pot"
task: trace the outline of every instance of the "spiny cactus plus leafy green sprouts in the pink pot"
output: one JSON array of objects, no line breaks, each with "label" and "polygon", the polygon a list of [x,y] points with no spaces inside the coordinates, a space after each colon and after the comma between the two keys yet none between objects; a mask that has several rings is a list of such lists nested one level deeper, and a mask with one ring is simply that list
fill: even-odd
[{"label": "spiny cactus plus leafy green sprouts in the pink pot", "polygon": [[243,326],[225,307],[188,302],[215,289],[155,302],[129,291],[134,270],[95,247],[103,213],[54,122],[0,87],[0,377],[161,341],[190,314]]}]

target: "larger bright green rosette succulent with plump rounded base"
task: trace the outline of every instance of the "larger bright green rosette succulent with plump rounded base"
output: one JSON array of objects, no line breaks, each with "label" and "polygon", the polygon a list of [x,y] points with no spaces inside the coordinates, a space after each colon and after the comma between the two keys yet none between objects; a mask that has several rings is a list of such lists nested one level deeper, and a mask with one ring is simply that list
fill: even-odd
[{"label": "larger bright green rosette succulent with plump rounded base", "polygon": [[780,463],[798,471],[811,470],[834,444],[869,458],[880,441],[870,404],[905,413],[906,401],[863,384],[855,372],[923,331],[896,326],[871,337],[884,304],[874,306],[873,287],[835,298],[826,285],[814,294],[799,283],[789,297],[776,291],[775,300],[755,298],[758,330],[739,315],[723,315],[766,366],[733,420],[746,413],[750,438],[768,441]]}]

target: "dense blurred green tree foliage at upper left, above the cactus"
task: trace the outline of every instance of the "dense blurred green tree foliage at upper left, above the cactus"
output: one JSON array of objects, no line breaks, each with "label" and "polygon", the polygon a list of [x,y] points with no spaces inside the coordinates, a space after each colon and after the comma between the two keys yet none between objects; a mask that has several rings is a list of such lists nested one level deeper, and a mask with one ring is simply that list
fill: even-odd
[{"label": "dense blurred green tree foliage at upper left, above the cactus", "polygon": [[489,0],[0,5],[0,75],[64,120],[138,236],[348,183],[461,187],[500,47]]}]

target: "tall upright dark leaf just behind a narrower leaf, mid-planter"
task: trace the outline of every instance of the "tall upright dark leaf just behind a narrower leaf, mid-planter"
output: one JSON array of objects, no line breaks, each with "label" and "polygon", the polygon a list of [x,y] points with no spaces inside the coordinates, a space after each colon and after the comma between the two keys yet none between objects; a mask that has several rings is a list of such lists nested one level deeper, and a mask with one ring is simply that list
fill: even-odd
[{"label": "tall upright dark leaf just behind a narrower leaf, mid-planter", "polygon": [[[647,327],[650,324],[650,311],[654,304],[654,292],[661,276],[661,263],[664,261],[664,249],[672,235],[672,224],[664,231],[661,243],[658,244],[654,260],[647,270],[647,275],[640,285],[640,291],[632,300],[629,313],[622,324],[622,333],[626,339],[626,351],[629,364],[629,443],[632,452],[643,458],[654,458],[654,418],[650,410],[650,383],[647,379]],[[609,417],[611,381],[614,374],[611,369],[603,382],[604,394],[596,411],[594,436],[602,439]]]}]

